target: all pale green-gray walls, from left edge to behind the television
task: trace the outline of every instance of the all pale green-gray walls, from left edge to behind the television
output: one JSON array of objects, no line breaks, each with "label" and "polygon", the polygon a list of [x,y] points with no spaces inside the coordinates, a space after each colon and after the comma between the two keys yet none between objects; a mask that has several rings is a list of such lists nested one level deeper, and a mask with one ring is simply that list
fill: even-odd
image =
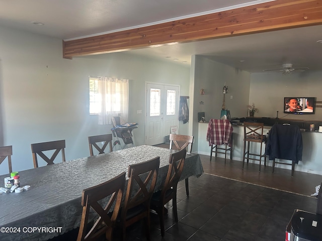
[{"label": "all pale green-gray walls, from left edge to behind the television", "polygon": [[[62,58],[61,42],[0,27],[0,146],[13,146],[15,171],[33,168],[31,143],[65,139],[66,159],[71,160],[89,156],[88,136],[111,133],[111,126],[100,126],[98,116],[89,115],[89,76],[130,79],[129,121],[139,123],[133,132],[136,145],[144,144],[146,82],[178,84],[180,94],[190,96],[190,121],[179,123],[179,133],[195,137],[198,112],[205,111],[206,121],[220,117],[224,84],[231,117],[246,116],[246,105],[253,102],[260,110],[257,116],[276,117],[279,110],[282,117],[285,96],[322,100],[321,72],[250,74],[205,56],[192,56],[190,68],[124,52],[68,60]],[[314,115],[286,118],[321,120],[322,108]],[[193,151],[197,148],[195,138]],[[0,165],[0,175],[7,172]]]}]

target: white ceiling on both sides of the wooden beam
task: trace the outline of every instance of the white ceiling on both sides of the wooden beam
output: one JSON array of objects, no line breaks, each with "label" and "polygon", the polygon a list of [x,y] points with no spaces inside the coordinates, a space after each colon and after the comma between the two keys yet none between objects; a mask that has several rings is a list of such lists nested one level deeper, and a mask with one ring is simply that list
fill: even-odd
[{"label": "white ceiling on both sides of the wooden beam", "polygon": [[[76,39],[254,5],[246,0],[0,0],[0,25],[59,39]],[[32,22],[41,22],[38,26]],[[0,33],[1,34],[1,33]],[[322,70],[322,25],[130,50],[190,64],[206,55],[249,72],[282,63]],[[168,57],[168,58],[166,58]],[[178,59],[178,60],[174,60]],[[241,62],[243,61],[243,62]]]}]

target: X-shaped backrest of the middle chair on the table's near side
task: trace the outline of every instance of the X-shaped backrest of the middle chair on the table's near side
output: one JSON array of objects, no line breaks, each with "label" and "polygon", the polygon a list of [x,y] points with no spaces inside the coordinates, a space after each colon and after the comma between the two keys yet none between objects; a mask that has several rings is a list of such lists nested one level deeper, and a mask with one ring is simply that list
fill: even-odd
[{"label": "X-shaped backrest of the middle chair on the table's near side", "polygon": [[132,207],[143,204],[146,208],[149,208],[159,165],[160,157],[155,157],[146,162],[129,165],[127,173],[129,180],[121,213],[122,220],[126,219],[126,212]]}]

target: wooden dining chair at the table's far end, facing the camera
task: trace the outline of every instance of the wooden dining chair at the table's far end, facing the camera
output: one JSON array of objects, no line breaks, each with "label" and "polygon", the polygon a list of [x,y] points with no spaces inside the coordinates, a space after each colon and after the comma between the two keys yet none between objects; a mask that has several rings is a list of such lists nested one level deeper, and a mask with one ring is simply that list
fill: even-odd
[{"label": "wooden dining chair at the table's far end, facing the camera", "polygon": [[[170,149],[174,149],[173,144],[175,144],[175,148],[181,150],[183,148],[188,148],[187,153],[191,153],[193,136],[185,136],[185,135],[174,135],[170,134]],[[186,193],[189,196],[189,180],[185,179],[186,182]]]}]

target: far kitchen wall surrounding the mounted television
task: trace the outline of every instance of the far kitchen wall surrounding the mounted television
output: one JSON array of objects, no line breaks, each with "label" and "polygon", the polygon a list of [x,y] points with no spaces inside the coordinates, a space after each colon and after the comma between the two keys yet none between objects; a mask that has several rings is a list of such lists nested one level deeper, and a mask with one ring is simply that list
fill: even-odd
[{"label": "far kitchen wall surrounding the mounted television", "polygon": [[[306,119],[322,122],[322,108],[315,114],[299,115],[283,113],[284,97],[316,97],[322,100],[321,71],[301,73],[253,73],[251,74],[250,103],[255,103],[259,112],[255,116]],[[319,104],[320,105],[320,104]]]}]

